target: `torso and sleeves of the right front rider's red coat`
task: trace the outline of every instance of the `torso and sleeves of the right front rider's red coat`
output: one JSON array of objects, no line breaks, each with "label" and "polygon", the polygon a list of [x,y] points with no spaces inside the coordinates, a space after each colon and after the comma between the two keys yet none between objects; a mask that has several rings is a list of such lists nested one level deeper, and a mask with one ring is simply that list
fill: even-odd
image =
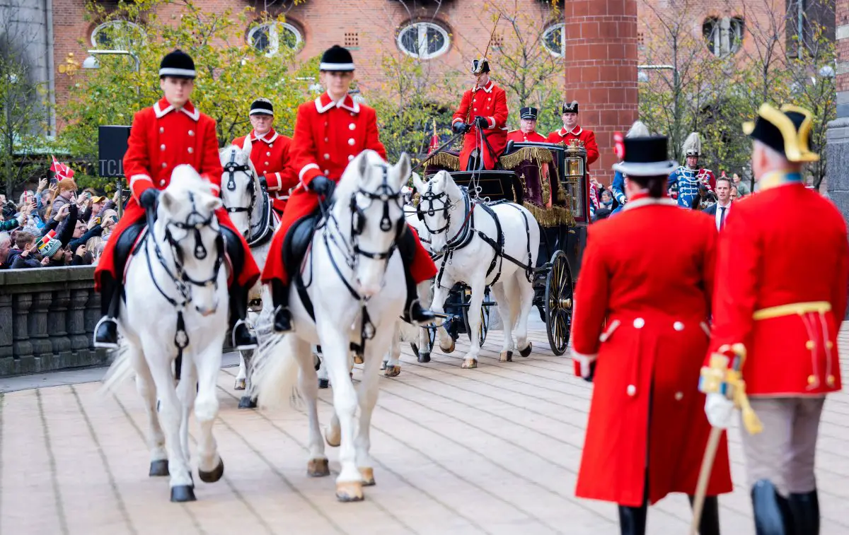
[{"label": "torso and sleeves of the right front rider's red coat", "polygon": [[373,108],[354,102],[350,95],[335,103],[326,92],[298,107],[290,154],[304,186],[319,175],[338,182],[348,162],[367,148],[386,159]]}]

